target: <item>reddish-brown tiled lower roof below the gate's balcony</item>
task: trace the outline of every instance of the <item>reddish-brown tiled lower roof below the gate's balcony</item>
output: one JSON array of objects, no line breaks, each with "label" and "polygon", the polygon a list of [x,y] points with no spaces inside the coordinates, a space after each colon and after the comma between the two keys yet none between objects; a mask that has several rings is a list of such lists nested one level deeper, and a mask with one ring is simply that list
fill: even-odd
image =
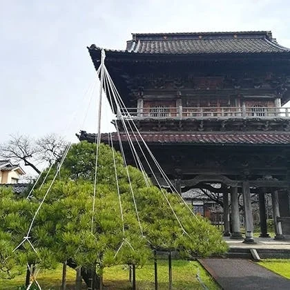
[{"label": "reddish-brown tiled lower roof below the gate's balcony", "polygon": [[[113,141],[118,142],[117,133],[112,133]],[[122,142],[128,142],[125,133],[120,133]],[[256,145],[289,145],[290,133],[142,133],[148,144],[256,144]],[[135,137],[132,135],[133,142]],[[80,140],[95,142],[95,134],[81,132]],[[138,137],[139,141],[141,140]],[[108,134],[101,135],[103,142],[108,142]]]}]

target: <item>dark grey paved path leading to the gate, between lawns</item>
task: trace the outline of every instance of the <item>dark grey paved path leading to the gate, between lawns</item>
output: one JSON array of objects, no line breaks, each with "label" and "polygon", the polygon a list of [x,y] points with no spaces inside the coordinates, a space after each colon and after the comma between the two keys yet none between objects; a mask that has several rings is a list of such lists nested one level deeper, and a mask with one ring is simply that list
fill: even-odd
[{"label": "dark grey paved path leading to the gate, between lawns", "polygon": [[289,290],[290,280],[243,259],[200,259],[224,290]]}]

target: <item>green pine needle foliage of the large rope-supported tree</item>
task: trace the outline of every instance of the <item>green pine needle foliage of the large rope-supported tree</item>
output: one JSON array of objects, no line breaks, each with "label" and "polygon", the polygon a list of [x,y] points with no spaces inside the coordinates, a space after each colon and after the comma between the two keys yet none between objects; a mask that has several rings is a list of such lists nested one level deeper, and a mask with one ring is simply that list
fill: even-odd
[{"label": "green pine needle foliage of the large rope-supported tree", "polygon": [[152,258],[152,249],[179,251],[187,258],[226,251],[226,244],[215,227],[204,218],[194,216],[177,195],[162,193],[153,184],[146,186],[142,172],[133,166],[124,167],[122,156],[116,151],[114,164],[112,148],[104,144],[98,148],[93,211],[96,149],[96,144],[88,142],[79,142],[70,148],[30,232],[30,242],[37,253],[28,242],[12,250],[26,236],[32,217],[57,171],[57,164],[30,200],[15,196],[10,189],[0,189],[1,278],[16,276],[19,266],[27,262],[50,269],[58,262],[72,260],[77,267],[92,269],[97,265],[101,273],[104,267],[115,264],[142,267]]}]

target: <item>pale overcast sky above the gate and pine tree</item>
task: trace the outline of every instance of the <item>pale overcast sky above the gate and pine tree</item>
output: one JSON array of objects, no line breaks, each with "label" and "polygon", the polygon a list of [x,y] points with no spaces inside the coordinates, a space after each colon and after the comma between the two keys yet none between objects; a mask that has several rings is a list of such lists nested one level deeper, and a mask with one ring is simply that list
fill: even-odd
[{"label": "pale overcast sky above the gate and pine tree", "polygon": [[10,134],[47,133],[76,141],[81,128],[95,130],[97,90],[88,88],[96,76],[86,49],[92,43],[124,49],[131,32],[272,30],[290,47],[287,0],[0,3],[0,143]]}]

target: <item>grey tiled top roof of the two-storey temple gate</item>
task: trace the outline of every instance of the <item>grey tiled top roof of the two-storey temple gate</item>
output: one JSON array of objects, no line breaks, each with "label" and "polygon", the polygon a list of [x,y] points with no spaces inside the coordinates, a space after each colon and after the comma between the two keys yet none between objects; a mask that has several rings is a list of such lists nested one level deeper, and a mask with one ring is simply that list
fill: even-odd
[{"label": "grey tiled top roof of the two-storey temple gate", "polygon": [[[89,50],[100,48],[92,45]],[[118,51],[142,55],[209,55],[281,53],[290,49],[280,46],[269,31],[250,31],[133,34],[126,50]]]}]

